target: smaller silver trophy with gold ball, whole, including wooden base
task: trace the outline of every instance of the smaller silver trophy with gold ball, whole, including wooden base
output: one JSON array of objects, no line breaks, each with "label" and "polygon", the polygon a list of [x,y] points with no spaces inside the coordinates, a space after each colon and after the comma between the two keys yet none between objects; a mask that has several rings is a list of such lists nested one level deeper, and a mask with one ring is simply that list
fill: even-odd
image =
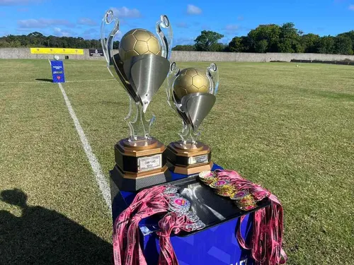
[{"label": "smaller silver trophy with gold ball, whole, including wooden base", "polygon": [[183,122],[179,133],[181,141],[170,143],[166,149],[170,169],[183,175],[211,170],[211,150],[198,141],[198,128],[215,104],[219,87],[216,64],[210,64],[206,71],[194,68],[180,70],[173,62],[167,83],[169,105]]}]

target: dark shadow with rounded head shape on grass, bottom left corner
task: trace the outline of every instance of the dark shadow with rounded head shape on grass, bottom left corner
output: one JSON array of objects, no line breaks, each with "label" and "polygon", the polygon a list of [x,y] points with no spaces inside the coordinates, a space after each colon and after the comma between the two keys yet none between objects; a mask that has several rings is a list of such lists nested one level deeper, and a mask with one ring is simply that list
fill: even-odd
[{"label": "dark shadow with rounded head shape on grass, bottom left corner", "polygon": [[56,211],[28,206],[19,189],[1,192],[21,217],[0,211],[0,264],[111,264],[112,245]]}]

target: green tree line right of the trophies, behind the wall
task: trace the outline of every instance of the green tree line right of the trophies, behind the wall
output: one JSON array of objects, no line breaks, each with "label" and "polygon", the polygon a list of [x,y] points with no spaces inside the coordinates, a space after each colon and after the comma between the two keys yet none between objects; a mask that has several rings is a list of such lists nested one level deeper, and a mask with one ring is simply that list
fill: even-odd
[{"label": "green tree line right of the trophies, behind the wall", "polygon": [[202,30],[194,45],[177,45],[175,51],[200,52],[311,52],[353,54],[354,30],[334,36],[309,33],[295,28],[294,23],[259,25],[248,35],[234,37],[229,44],[219,42],[224,35]]}]

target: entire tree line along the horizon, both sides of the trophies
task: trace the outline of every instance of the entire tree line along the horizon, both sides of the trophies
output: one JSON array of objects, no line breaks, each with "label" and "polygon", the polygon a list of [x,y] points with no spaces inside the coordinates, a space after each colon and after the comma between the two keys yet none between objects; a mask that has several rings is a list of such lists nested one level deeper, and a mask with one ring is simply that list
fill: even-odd
[{"label": "entire tree line along the horizon, both sides of the trophies", "polygon": [[[258,25],[248,35],[234,37],[231,42],[219,42],[224,35],[211,30],[202,30],[193,45],[177,45],[175,51],[201,52],[312,52],[322,54],[353,54],[354,30],[336,36],[304,34],[294,23],[282,25]],[[99,49],[101,40],[84,40],[82,37],[45,36],[34,32],[28,35],[0,37],[0,47],[59,47]],[[119,42],[113,43],[118,49]]]}]

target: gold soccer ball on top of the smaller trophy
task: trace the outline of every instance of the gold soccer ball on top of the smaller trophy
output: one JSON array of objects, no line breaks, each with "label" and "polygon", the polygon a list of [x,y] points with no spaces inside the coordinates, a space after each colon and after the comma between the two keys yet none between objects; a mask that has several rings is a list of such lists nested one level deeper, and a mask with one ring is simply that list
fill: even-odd
[{"label": "gold soccer ball on top of the smaller trophy", "polygon": [[186,68],[181,71],[173,83],[173,92],[177,100],[193,93],[209,93],[209,79],[204,71]]}]

